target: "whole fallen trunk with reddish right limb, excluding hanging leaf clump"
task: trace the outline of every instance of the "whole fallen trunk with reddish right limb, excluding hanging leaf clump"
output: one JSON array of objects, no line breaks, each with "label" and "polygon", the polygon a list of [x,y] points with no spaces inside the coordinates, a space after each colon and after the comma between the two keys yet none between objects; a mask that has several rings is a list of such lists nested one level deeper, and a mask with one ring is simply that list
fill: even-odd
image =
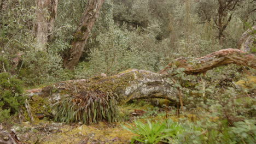
[{"label": "whole fallen trunk with reddish right limb, excluding hanging leaf clump", "polygon": [[[60,106],[62,101],[67,99],[71,101],[71,104],[81,104],[84,100],[82,97],[95,97],[95,95],[98,97],[97,94],[99,92],[103,93],[103,95],[111,95],[119,105],[134,99],[162,98],[170,100],[174,104],[180,101],[182,106],[181,89],[177,89],[174,86],[175,81],[168,79],[168,77],[170,78],[170,76],[174,75],[169,73],[170,70],[184,68],[186,74],[196,75],[205,73],[207,70],[220,65],[231,63],[256,68],[256,57],[253,54],[237,49],[225,49],[200,58],[183,57],[175,59],[166,68],[160,70],[159,73],[129,69],[113,76],[102,74],[91,79],[63,81],[42,89],[31,89],[27,92],[30,93],[28,98],[40,96],[44,101],[46,100],[44,104],[48,106],[45,107]],[[56,109],[51,110],[51,112],[47,110],[39,114],[50,117],[52,117],[51,114],[53,116],[58,115]],[[35,117],[37,114],[35,112],[31,113],[31,117]]]}]

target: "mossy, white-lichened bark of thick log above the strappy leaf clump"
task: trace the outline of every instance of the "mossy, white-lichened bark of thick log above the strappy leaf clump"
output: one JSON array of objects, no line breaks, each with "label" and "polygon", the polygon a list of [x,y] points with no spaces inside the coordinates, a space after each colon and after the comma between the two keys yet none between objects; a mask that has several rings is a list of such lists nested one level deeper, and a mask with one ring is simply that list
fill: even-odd
[{"label": "mossy, white-lichened bark of thick log above the strappy leaf clump", "polygon": [[[130,69],[114,76],[92,77],[88,80],[71,80],[54,85],[57,93],[75,95],[83,91],[111,92],[119,103],[141,98],[167,98],[173,100],[177,90],[164,75],[147,70]],[[54,95],[54,94],[53,94]]]}]

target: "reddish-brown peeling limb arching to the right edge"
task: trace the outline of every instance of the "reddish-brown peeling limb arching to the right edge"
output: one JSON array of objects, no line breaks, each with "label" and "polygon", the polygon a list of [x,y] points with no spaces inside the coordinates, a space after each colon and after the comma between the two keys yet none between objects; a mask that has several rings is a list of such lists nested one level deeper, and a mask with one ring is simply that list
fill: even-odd
[{"label": "reddish-brown peeling limb arching to the right edge", "polygon": [[170,62],[164,69],[160,70],[159,74],[169,75],[168,71],[172,70],[175,66],[175,68],[184,68],[184,73],[186,74],[197,75],[231,63],[255,69],[256,56],[237,49],[224,49],[200,58],[177,58],[173,62]]}]

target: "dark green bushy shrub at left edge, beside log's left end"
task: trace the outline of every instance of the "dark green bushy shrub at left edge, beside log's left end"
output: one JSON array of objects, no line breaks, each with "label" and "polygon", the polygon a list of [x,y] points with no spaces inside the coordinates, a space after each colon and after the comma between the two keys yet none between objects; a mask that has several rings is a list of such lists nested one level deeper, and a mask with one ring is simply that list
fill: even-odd
[{"label": "dark green bushy shrub at left edge, beside log's left end", "polygon": [[0,122],[18,112],[24,102],[22,82],[8,73],[0,73]]}]

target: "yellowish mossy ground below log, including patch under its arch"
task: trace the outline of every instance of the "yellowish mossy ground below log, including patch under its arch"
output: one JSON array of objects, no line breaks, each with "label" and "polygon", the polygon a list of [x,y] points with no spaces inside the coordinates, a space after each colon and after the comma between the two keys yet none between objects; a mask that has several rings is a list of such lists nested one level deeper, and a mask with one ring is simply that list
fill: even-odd
[{"label": "yellowish mossy ground below log, including patch under its arch", "polygon": [[15,131],[20,141],[24,143],[131,143],[135,134],[125,130],[123,126],[133,125],[133,120],[146,122],[147,119],[165,119],[168,116],[175,121],[177,117],[172,111],[165,111],[150,104],[149,101],[136,101],[132,104],[120,106],[121,122],[99,122],[91,125],[56,123],[47,119],[35,122],[15,124],[11,129]]}]

